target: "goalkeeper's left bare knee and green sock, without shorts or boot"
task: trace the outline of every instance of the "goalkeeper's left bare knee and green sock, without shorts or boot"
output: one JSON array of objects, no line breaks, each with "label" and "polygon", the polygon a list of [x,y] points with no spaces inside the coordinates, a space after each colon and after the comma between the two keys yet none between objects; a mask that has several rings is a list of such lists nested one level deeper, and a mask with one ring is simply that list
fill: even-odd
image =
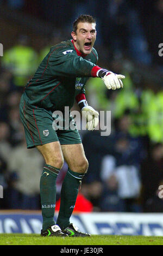
[{"label": "goalkeeper's left bare knee and green sock, without shorts or boot", "polygon": [[64,158],[58,141],[37,146],[37,149],[41,152],[46,163],[40,178],[42,230],[46,230],[48,227],[55,225],[56,180],[64,163]]}]

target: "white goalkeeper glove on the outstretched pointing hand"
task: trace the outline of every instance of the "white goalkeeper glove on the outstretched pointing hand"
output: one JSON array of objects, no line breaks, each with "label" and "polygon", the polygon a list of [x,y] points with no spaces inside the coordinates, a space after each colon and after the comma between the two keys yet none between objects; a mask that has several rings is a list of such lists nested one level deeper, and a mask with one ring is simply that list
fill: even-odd
[{"label": "white goalkeeper glove on the outstretched pointing hand", "polygon": [[123,88],[123,83],[121,81],[121,79],[124,79],[125,76],[124,75],[117,75],[112,73],[111,71],[108,71],[106,69],[99,69],[97,72],[97,76],[99,78],[102,78],[102,80],[105,83],[106,88],[108,88],[109,90],[116,90],[119,88]]}]

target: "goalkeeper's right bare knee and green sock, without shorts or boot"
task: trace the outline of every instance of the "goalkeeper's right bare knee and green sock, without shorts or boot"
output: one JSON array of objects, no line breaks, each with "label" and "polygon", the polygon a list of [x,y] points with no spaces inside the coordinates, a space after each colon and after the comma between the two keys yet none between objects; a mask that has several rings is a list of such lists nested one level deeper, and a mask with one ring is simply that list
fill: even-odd
[{"label": "goalkeeper's right bare knee and green sock, without shorts or boot", "polygon": [[82,144],[61,145],[62,153],[68,164],[68,171],[61,188],[60,210],[57,224],[61,229],[70,225],[78,189],[84,177],[88,162]]}]

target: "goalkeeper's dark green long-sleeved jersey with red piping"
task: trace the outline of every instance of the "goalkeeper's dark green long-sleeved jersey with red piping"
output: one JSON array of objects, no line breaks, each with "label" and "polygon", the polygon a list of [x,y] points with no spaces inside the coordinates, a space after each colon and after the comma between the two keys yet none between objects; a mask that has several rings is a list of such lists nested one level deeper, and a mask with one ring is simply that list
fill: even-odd
[{"label": "goalkeeper's dark green long-sleeved jersey with red piping", "polygon": [[79,93],[85,93],[85,84],[93,76],[98,55],[94,48],[89,55],[79,56],[72,40],[51,47],[47,56],[27,83],[23,98],[28,105],[47,110],[70,109]]}]

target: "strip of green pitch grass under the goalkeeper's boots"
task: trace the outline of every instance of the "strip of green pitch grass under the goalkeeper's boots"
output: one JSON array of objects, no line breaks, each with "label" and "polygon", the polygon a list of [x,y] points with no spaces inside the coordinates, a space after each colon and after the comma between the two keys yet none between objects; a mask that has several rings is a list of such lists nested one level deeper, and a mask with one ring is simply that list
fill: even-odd
[{"label": "strip of green pitch grass under the goalkeeper's boots", "polygon": [[41,237],[37,234],[0,234],[0,245],[163,245],[163,237],[92,235],[63,238]]}]

